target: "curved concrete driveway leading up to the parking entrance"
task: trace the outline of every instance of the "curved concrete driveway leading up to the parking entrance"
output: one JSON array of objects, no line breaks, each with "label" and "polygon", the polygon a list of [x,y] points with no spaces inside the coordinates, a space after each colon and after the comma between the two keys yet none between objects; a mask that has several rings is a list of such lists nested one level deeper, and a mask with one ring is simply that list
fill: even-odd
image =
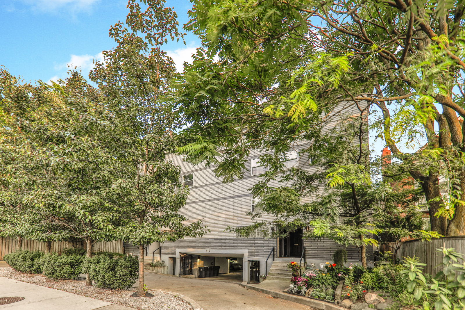
[{"label": "curved concrete driveway leading up to the parking entrance", "polygon": [[274,298],[239,286],[237,282],[179,278],[146,273],[151,290],[170,290],[192,298],[205,310],[309,310],[300,303]]}]

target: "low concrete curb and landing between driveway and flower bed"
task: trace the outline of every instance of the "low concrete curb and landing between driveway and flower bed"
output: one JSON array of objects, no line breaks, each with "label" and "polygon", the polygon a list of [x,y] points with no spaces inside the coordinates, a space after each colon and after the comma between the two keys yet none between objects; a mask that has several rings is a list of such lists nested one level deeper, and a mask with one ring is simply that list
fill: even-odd
[{"label": "low concrete curb and landing between driveway and flower bed", "polygon": [[287,281],[269,280],[267,277],[265,281],[259,284],[247,284],[246,282],[242,282],[240,285],[250,290],[256,290],[273,297],[282,298],[294,303],[305,304],[306,306],[321,310],[346,310],[345,308],[336,306],[334,303],[326,303],[308,297],[300,297],[298,295],[285,293],[283,290],[289,287],[289,282]]}]

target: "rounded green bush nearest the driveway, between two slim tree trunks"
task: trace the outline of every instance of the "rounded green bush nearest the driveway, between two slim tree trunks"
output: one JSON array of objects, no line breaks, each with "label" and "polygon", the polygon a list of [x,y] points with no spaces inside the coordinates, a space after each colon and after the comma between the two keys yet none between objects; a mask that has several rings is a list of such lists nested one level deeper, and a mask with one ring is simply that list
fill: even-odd
[{"label": "rounded green bush nearest the driveway, between two slim tree trunks", "polygon": [[97,287],[123,290],[131,287],[139,275],[139,261],[133,256],[112,258],[99,255],[86,258],[83,272],[88,273]]}]

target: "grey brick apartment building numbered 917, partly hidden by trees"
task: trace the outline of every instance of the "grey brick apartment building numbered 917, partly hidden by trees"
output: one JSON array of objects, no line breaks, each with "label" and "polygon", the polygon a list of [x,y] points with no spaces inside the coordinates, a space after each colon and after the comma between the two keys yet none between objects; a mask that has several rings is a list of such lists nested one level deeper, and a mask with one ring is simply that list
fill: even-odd
[{"label": "grey brick apartment building numbered 917, partly hidden by trees", "polygon": [[[353,107],[352,107],[353,108]],[[351,115],[358,111],[352,111]],[[334,124],[332,125],[334,126]],[[317,169],[308,156],[300,156],[299,149],[307,148],[307,142],[301,142],[287,154],[286,167],[299,166],[303,169]],[[192,221],[203,219],[210,233],[197,238],[184,238],[172,243],[153,243],[146,249],[150,260],[159,257],[168,266],[168,273],[178,276],[199,276],[199,267],[219,266],[219,273],[229,274],[231,262],[242,265],[242,281],[258,282],[259,275],[265,275],[271,268],[273,256],[282,262],[299,261],[305,256],[307,264],[332,261],[332,255],[344,246],[329,239],[303,239],[306,227],[290,232],[286,238],[264,237],[261,233],[245,237],[228,232],[226,228],[248,226],[254,220],[247,212],[254,212],[254,199],[249,191],[260,180],[259,175],[266,167],[259,165],[258,151],[252,152],[248,158],[244,178],[231,183],[223,183],[213,170],[215,166],[193,166],[183,162],[182,156],[171,155],[168,159],[181,168],[181,178],[190,188],[186,205],[180,213]],[[270,184],[270,185],[278,185]],[[255,221],[272,220],[272,216],[263,214]],[[269,227],[270,231],[278,227]],[[274,250],[273,250],[274,249]],[[126,252],[135,250],[126,243]],[[346,248],[349,262],[359,262],[359,249]],[[161,251],[161,253],[160,253]],[[367,249],[368,259],[372,257],[372,249]],[[231,267],[231,268],[230,268]],[[237,276],[237,271],[235,272]]]}]

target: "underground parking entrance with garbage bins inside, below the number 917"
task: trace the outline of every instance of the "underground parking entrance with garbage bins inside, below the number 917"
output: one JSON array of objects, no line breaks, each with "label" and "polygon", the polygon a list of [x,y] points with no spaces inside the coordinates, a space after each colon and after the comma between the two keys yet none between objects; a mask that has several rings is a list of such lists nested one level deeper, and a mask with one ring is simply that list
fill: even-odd
[{"label": "underground parking entrance with garbage bins inside, below the number 917", "polygon": [[[206,280],[247,281],[247,250],[179,249],[177,274]],[[246,263],[244,263],[246,262]]]}]

